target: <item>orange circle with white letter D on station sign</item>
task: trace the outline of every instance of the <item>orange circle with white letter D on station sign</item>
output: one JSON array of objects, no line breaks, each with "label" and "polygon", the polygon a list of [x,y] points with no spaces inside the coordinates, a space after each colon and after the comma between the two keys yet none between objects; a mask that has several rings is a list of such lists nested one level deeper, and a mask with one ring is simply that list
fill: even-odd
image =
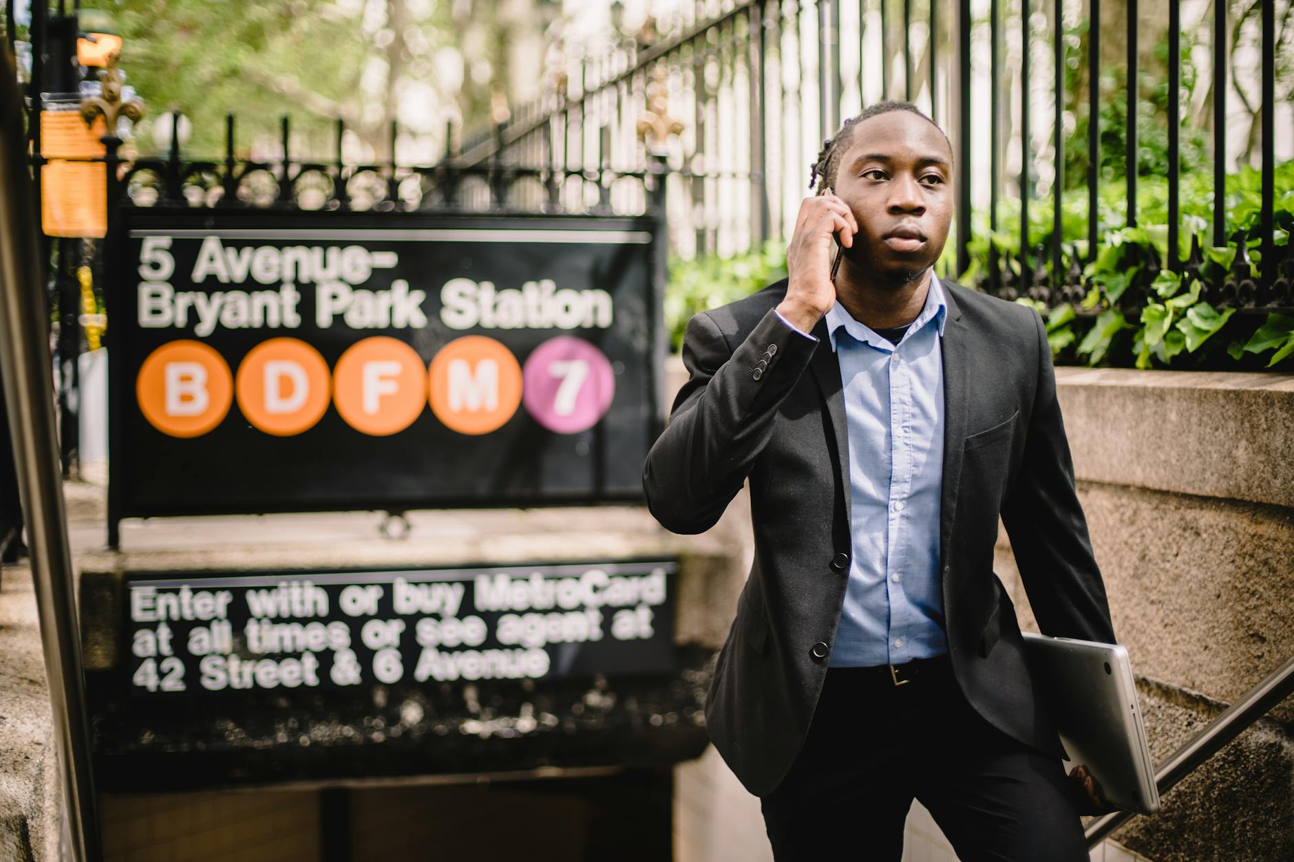
[{"label": "orange circle with white letter D on station sign", "polygon": [[272,338],[238,365],[234,395],[247,421],[265,434],[289,437],[313,428],[331,400],[327,362],[296,338]]}]

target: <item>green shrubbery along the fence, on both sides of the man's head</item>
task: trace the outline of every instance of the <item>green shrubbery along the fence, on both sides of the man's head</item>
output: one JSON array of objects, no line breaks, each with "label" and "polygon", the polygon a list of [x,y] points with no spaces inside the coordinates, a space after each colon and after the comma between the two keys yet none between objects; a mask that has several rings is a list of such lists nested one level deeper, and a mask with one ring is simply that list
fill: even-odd
[{"label": "green shrubbery along the fence, on both sides of the man's head", "polygon": [[[1198,237],[1203,264],[1201,277],[1212,280],[1231,271],[1236,258],[1234,237],[1245,238],[1250,273],[1262,263],[1260,238],[1262,175],[1244,168],[1227,179],[1228,245],[1212,246],[1212,177],[1197,172],[1181,177],[1179,258],[1190,252]],[[1218,309],[1200,300],[1200,282],[1181,278],[1161,268],[1167,259],[1167,181],[1141,177],[1137,192],[1137,227],[1128,228],[1126,186],[1122,180],[1101,182],[1097,193],[1099,254],[1087,255],[1087,189],[1071,189],[1061,197],[1061,267],[1068,272],[1074,255],[1090,290],[1075,305],[1048,309],[1027,298],[1016,302],[1035,308],[1047,322],[1048,340],[1057,364],[1113,365],[1174,369],[1264,369],[1277,362],[1291,365],[1294,356],[1294,317],[1282,313],[1237,313]],[[1294,230],[1294,160],[1276,168],[1276,246],[1284,256]],[[1029,233],[1035,249],[1038,281],[1049,278],[1051,198],[1030,201]],[[987,283],[991,250],[1003,265],[1020,274],[1020,202],[999,202],[998,230],[989,230],[985,211],[972,214],[974,236],[968,251],[969,265],[956,276],[956,241],[949,237],[938,272],[969,287]],[[785,246],[771,241],[763,249],[696,260],[675,259],[669,267],[665,291],[665,320],[674,349],[683,338],[687,320],[699,311],[714,308],[748,295],[785,277]],[[1137,308],[1119,303],[1130,287],[1145,287],[1145,302]],[[1219,337],[1220,334],[1220,337]],[[1216,338],[1215,338],[1216,337]]]}]

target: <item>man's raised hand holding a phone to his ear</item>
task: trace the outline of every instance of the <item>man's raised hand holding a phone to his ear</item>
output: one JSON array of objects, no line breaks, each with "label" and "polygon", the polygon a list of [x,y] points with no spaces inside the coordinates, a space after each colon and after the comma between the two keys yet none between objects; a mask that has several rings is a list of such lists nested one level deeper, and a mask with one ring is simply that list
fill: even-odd
[{"label": "man's raised hand holding a phone to his ear", "polygon": [[778,313],[800,331],[811,330],[836,304],[836,286],[831,282],[836,232],[842,246],[853,247],[858,221],[831,189],[800,202],[796,229],[787,246],[787,295],[778,305]]}]

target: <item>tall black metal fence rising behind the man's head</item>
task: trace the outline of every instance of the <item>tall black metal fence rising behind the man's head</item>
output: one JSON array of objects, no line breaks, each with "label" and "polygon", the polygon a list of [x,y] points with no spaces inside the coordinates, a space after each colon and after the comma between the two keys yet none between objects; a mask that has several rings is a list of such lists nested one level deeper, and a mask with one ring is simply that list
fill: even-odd
[{"label": "tall black metal fence rising behind the man's head", "polygon": [[[1180,97],[1167,98],[1166,243],[1163,251],[1153,243],[1127,243],[1122,263],[1140,268],[1141,277],[1117,290],[1106,290],[1088,272],[1110,230],[1121,227],[1101,221],[1099,189],[1102,146],[1108,146],[1102,145],[1102,135],[1122,133],[1121,157],[1110,159],[1122,164],[1106,167],[1119,168],[1124,177],[1124,224],[1135,228],[1143,146],[1137,118],[1139,106],[1148,102],[1139,58],[1148,41],[1166,38],[1167,92],[1180,94],[1181,4],[1159,4],[1167,9],[1167,25],[1157,32],[1145,31],[1137,0],[990,0],[987,14],[980,19],[972,17],[970,0],[861,0],[857,9],[854,5],[845,4],[851,18],[846,32],[840,0],[756,0],[727,4],[725,9],[685,4],[664,32],[656,32],[656,22],[647,22],[635,36],[619,40],[604,53],[569,58],[567,71],[550,82],[540,98],[520,105],[506,123],[470,137],[459,160],[467,166],[492,159],[547,166],[555,172],[558,188],[565,188],[568,181],[582,184],[584,173],[595,166],[638,163],[646,150],[637,141],[637,120],[655,78],[666,85],[670,107],[685,124],[668,149],[670,182],[678,186],[678,194],[672,193],[678,206],[672,214],[675,252],[727,254],[770,236],[789,234],[798,197],[807,194],[807,166],[818,142],[839,127],[841,109],[851,113],[877,98],[905,98],[916,101],[950,132],[963,166],[956,176],[955,238],[942,272],[956,276],[970,269],[976,246],[973,202],[983,201],[980,208],[986,211],[987,230],[996,236],[1005,225],[1003,206],[1009,199],[1016,237],[1011,242],[991,241],[987,265],[972,271],[973,281],[1005,298],[1029,296],[1051,307],[1079,305],[1095,286],[1106,300],[1101,304],[1135,311],[1145,304],[1149,285],[1162,268],[1180,273],[1183,285],[1198,282],[1198,299],[1218,308],[1291,311],[1294,246],[1277,245],[1277,229],[1291,225],[1276,220],[1276,62],[1284,40],[1277,39],[1273,0],[1259,0],[1245,12],[1246,17],[1259,18],[1262,31],[1256,75],[1260,104],[1254,110],[1262,126],[1262,192],[1254,229],[1228,234],[1227,228],[1229,50],[1245,22],[1228,18],[1228,4],[1218,0],[1212,4],[1212,31],[1207,34],[1212,82],[1211,230],[1203,237],[1192,232],[1189,254],[1179,252],[1183,116]],[[1121,18],[1126,22],[1122,74],[1127,107],[1122,129],[1102,128],[1101,122],[1101,100],[1109,97],[1099,84],[1108,71],[1102,69],[1108,65],[1108,58],[1102,61],[1102,16],[1106,23]],[[1075,17],[1079,25],[1086,22],[1086,27],[1075,27],[1082,36],[1079,47],[1065,27],[1066,18]],[[1288,19],[1286,10],[1282,26]],[[1008,32],[1008,26],[1016,32]],[[1004,65],[1008,38],[1016,40],[1011,67]],[[986,41],[987,52],[977,57],[973,41]],[[1039,82],[1031,66],[1042,56],[1039,45],[1048,41],[1049,69],[1043,69],[1044,80]],[[972,80],[983,75],[985,66],[990,82],[987,105],[978,110]],[[1087,217],[1086,232],[1071,236],[1073,224],[1066,230],[1062,211],[1066,195],[1056,190],[1064,189],[1066,176],[1066,123],[1075,119],[1066,118],[1068,72],[1082,66],[1087,69],[1087,80],[1080,82],[1088,96],[1087,118],[1078,119],[1087,120]],[[1031,109],[1039,101],[1039,83],[1051,91],[1049,137],[1039,137],[1036,132],[1044,129],[1034,128]],[[987,146],[973,148],[985,131]],[[976,149],[987,149],[987,172],[972,167]],[[1004,170],[1008,158],[1016,163],[1014,176]],[[1052,219],[1049,229],[1039,232],[1030,214],[1043,206],[1049,206]],[[1206,264],[1209,245],[1236,247],[1229,267]],[[1097,304],[1088,305],[1079,313],[1095,315]]]}]

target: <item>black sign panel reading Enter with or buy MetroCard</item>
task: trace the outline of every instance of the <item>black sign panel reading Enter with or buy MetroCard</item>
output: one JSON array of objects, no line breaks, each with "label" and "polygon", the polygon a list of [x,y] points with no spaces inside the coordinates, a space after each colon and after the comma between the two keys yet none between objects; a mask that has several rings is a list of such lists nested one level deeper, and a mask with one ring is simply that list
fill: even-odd
[{"label": "black sign panel reading Enter with or buy MetroCard", "polygon": [[127,577],[131,692],[668,673],[673,560]]}]

